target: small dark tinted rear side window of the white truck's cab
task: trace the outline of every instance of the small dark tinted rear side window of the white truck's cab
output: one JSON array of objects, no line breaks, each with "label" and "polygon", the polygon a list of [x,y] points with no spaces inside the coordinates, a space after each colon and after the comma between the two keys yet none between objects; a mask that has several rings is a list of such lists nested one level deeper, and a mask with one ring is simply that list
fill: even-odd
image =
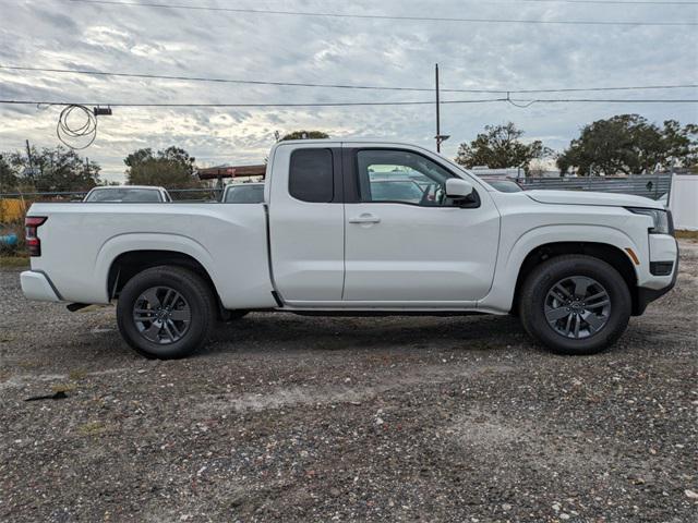
[{"label": "small dark tinted rear side window of the white truck's cab", "polygon": [[332,150],[298,149],[291,153],[288,191],[302,202],[329,203],[335,193]]}]

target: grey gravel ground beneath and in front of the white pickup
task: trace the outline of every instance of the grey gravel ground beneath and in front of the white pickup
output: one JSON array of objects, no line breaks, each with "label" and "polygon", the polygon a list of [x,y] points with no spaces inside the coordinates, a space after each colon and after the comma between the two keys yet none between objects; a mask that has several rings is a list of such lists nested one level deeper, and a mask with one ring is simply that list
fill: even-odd
[{"label": "grey gravel ground beneath and in front of the white pickup", "polygon": [[[609,352],[509,317],[252,314],[184,361],[0,271],[2,521],[698,519],[698,243]],[[25,401],[65,393],[62,400]]]}]

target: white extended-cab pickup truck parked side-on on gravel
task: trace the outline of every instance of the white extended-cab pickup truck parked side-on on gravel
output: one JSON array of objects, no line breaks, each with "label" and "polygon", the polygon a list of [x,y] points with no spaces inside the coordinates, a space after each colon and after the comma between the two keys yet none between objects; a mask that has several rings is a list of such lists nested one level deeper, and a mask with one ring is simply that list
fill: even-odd
[{"label": "white extended-cab pickup truck parked side-on on gravel", "polygon": [[273,147],[264,202],[35,204],[26,297],[117,300],[141,354],[180,357],[217,318],[515,314],[550,349],[589,354],[676,280],[671,215],[617,194],[498,192],[421,147]]}]

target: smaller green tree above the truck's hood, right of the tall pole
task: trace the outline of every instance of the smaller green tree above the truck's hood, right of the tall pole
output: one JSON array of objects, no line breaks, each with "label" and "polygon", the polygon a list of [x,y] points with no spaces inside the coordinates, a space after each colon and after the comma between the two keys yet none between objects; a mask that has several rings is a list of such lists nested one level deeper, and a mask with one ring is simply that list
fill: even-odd
[{"label": "smaller green tree above the truck's hood, right of the tall pole", "polygon": [[525,144],[524,131],[512,122],[505,125],[488,125],[470,144],[458,147],[456,162],[464,167],[488,166],[492,169],[521,167],[528,173],[529,163],[552,154],[539,139]]}]

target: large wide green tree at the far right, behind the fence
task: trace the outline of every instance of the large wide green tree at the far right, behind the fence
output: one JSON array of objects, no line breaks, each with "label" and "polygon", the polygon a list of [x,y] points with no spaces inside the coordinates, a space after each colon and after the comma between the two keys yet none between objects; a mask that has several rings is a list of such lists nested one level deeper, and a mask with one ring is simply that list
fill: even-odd
[{"label": "large wide green tree at the far right, behind the fence", "polygon": [[557,158],[562,172],[580,175],[641,174],[698,159],[698,126],[666,120],[662,127],[639,114],[618,114],[586,125]]}]

